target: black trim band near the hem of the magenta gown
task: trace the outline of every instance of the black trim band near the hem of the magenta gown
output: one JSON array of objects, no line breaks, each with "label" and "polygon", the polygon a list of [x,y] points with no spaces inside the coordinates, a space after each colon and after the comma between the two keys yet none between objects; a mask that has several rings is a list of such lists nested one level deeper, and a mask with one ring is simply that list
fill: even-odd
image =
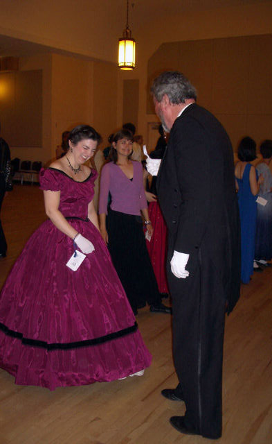
[{"label": "black trim band near the hem of the magenta gown", "polygon": [[42,347],[46,350],[71,350],[72,348],[88,347],[89,345],[98,345],[105,343],[107,341],[112,341],[113,339],[121,338],[127,334],[136,332],[138,329],[138,324],[134,323],[131,327],[124,328],[118,332],[106,334],[105,336],[100,336],[99,338],[87,339],[85,341],[69,342],[69,343],[47,343],[45,341],[37,341],[36,339],[24,338],[23,334],[10,330],[6,325],[0,323],[0,330],[2,330],[7,336],[12,336],[12,338],[21,339],[21,343],[24,345],[31,345],[33,347]]}]

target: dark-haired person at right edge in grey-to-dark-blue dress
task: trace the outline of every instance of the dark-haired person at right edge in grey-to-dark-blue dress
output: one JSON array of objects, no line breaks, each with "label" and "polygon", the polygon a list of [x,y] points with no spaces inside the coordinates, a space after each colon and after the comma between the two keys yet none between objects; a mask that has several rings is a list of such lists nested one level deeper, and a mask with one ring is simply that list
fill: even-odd
[{"label": "dark-haired person at right edge in grey-to-dark-blue dress", "polygon": [[272,158],[272,140],[264,140],[260,145],[262,162],[257,164],[257,173],[263,176],[258,196],[265,201],[257,203],[257,223],[255,240],[255,262],[261,266],[270,266],[272,259],[272,174],[269,164]]}]

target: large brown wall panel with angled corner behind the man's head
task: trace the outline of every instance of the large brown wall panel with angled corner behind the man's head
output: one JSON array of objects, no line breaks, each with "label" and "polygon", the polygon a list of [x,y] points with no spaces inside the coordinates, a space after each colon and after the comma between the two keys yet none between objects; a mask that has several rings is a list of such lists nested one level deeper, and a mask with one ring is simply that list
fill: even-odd
[{"label": "large brown wall panel with angled corner behind the man's head", "polygon": [[[162,44],[149,59],[148,85],[165,69],[185,72],[198,103],[223,123],[233,147],[272,137],[272,35]],[[149,88],[148,88],[149,89]],[[154,108],[147,92],[147,114]]]}]

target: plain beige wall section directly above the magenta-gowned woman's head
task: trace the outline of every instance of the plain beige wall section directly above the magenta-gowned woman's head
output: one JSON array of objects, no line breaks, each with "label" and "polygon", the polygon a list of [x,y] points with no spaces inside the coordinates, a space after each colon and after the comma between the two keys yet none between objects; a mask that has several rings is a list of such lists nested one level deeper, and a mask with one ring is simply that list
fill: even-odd
[{"label": "plain beige wall section directly above the magenta-gowned woman's head", "polygon": [[53,54],[52,79],[55,146],[64,130],[82,123],[93,126],[102,135],[102,146],[107,146],[107,137],[116,128],[116,66]]}]

